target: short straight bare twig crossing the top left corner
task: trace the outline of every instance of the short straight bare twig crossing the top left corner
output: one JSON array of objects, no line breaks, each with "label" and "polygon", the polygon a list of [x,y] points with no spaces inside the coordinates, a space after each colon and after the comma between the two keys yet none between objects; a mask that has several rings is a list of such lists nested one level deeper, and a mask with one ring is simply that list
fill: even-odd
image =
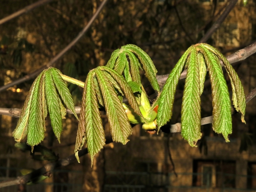
[{"label": "short straight bare twig crossing the top left corner", "polygon": [[18,16],[22,15],[23,13],[27,13],[27,12],[31,11],[32,9],[34,9],[36,7],[39,7],[39,6],[41,6],[45,3],[49,3],[51,1],[53,1],[53,0],[41,0],[41,1],[38,1],[38,2],[33,3],[31,5],[28,5],[28,6],[24,7],[23,9],[20,9],[19,11],[1,19],[0,20],[0,25],[2,25],[3,23],[5,23],[5,22],[7,22],[7,21],[9,21],[9,20],[11,20],[15,17],[18,17]]}]

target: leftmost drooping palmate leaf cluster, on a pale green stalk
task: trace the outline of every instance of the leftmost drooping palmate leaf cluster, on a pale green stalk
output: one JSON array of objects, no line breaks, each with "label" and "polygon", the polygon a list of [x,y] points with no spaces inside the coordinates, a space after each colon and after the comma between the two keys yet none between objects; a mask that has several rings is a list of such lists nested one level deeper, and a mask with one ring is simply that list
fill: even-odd
[{"label": "leftmost drooping palmate leaf cluster, on a pale green stalk", "polygon": [[60,142],[62,119],[66,108],[77,117],[75,106],[67,83],[56,68],[45,69],[32,84],[22,108],[16,129],[15,141],[20,142],[27,135],[27,144],[32,147],[44,140],[45,118],[49,113],[52,129]]}]

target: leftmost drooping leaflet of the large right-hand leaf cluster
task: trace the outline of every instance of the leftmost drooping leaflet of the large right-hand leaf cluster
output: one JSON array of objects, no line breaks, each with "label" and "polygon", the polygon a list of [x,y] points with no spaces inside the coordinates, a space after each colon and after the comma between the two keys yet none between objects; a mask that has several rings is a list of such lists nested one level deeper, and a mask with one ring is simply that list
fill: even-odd
[{"label": "leftmost drooping leaflet of the large right-hand leaf cluster", "polygon": [[172,117],[174,95],[176,87],[179,81],[180,74],[185,65],[187,57],[191,51],[191,47],[188,48],[182,57],[179,59],[172,72],[169,74],[169,77],[166,80],[166,83],[163,87],[163,91],[160,95],[158,102],[158,112],[157,112],[157,126],[158,130],[161,126],[165,125]]}]

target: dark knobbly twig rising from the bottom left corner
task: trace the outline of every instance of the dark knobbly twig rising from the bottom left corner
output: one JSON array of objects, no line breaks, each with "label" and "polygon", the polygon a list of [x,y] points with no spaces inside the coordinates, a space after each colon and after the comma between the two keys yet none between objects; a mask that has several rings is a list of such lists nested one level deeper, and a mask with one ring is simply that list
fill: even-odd
[{"label": "dark knobbly twig rising from the bottom left corner", "polygon": [[[106,144],[109,144],[112,142],[113,140],[111,137],[106,137]],[[83,155],[86,155],[87,153],[88,153],[88,149],[85,148],[78,152],[78,156],[81,157]],[[75,157],[75,154],[73,154],[68,156],[65,159],[59,159],[57,162],[47,163],[40,169],[37,169],[27,175],[17,177],[16,179],[0,182],[0,188],[11,186],[11,185],[26,184],[32,179],[35,179],[47,172],[52,172],[55,168],[67,166],[75,160],[76,160],[76,157]]]}]

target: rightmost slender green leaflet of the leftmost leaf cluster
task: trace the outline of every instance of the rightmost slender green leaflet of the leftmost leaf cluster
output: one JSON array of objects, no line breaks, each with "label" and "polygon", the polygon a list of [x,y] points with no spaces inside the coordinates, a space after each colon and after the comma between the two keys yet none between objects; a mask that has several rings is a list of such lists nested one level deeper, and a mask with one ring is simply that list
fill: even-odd
[{"label": "rightmost slender green leaflet of the leftmost leaf cluster", "polygon": [[58,90],[58,93],[66,105],[66,107],[76,116],[78,119],[78,116],[76,114],[75,105],[72,99],[72,96],[70,94],[70,91],[68,90],[68,86],[66,82],[62,79],[60,76],[61,72],[56,68],[49,68],[49,71],[51,71],[52,79],[54,81],[55,87]]}]

